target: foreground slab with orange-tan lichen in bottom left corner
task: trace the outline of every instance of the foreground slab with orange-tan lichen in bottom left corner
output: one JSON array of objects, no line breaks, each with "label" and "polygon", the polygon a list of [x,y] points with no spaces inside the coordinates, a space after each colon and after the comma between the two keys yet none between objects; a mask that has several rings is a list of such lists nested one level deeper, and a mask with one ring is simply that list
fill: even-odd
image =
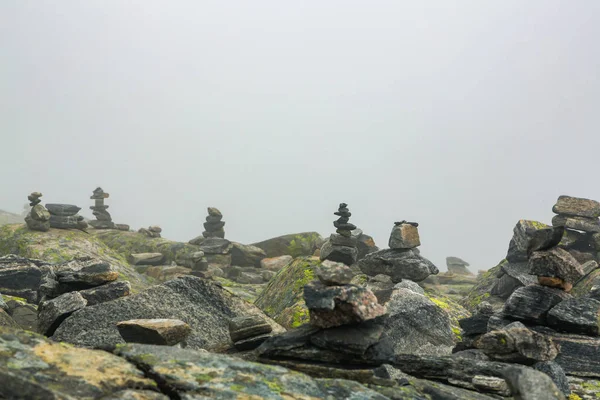
[{"label": "foreground slab with orange-tan lichen in bottom left corner", "polygon": [[113,354],[0,328],[0,398],[98,399],[125,389],[156,391],[156,383]]}]

